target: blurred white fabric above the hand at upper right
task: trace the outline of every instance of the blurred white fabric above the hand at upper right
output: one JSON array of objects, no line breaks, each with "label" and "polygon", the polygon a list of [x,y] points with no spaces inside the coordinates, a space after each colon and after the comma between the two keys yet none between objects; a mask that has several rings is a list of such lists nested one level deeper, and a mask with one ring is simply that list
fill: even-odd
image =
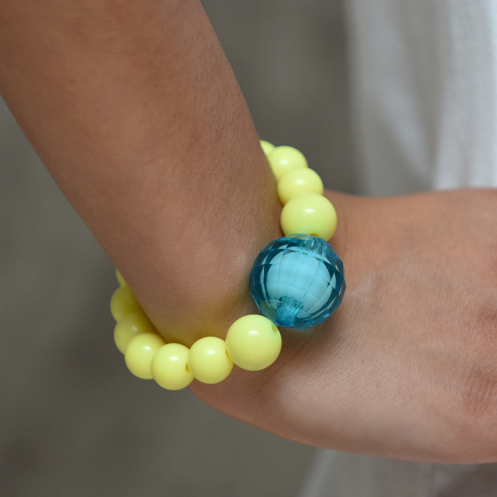
[{"label": "blurred white fabric above the hand at upper right", "polygon": [[497,185],[497,2],[346,4],[363,189]]}]

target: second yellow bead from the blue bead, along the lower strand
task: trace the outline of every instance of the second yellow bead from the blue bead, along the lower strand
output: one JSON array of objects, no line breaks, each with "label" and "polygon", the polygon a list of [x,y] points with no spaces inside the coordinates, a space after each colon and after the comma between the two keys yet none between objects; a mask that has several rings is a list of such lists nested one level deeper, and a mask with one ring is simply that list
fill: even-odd
[{"label": "second yellow bead from the blue bead, along the lower strand", "polygon": [[188,367],[196,380],[219,383],[231,373],[233,361],[228,357],[224,340],[205,336],[190,347]]}]

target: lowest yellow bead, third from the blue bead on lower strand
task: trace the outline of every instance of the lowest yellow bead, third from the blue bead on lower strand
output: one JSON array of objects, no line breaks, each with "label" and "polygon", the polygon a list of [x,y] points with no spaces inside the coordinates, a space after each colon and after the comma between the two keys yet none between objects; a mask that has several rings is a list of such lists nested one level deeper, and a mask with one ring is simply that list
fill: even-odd
[{"label": "lowest yellow bead, third from the blue bead on lower strand", "polygon": [[154,380],[167,390],[181,390],[193,380],[188,368],[188,347],[180,343],[166,343],[152,359]]}]

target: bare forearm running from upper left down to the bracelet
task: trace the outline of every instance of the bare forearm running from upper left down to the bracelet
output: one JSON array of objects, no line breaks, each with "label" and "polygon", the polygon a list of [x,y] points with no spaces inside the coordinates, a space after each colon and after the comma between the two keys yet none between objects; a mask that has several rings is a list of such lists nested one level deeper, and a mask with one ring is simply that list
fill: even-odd
[{"label": "bare forearm running from upper left down to the bracelet", "polygon": [[201,3],[3,2],[0,47],[5,101],[156,325],[225,332],[279,207]]}]

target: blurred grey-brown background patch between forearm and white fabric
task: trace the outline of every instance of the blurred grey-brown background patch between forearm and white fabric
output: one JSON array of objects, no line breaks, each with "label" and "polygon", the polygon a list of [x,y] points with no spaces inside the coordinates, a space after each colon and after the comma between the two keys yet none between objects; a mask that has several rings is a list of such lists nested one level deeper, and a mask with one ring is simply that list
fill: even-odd
[{"label": "blurred grey-brown background patch between forearm and white fabric", "polygon": [[355,192],[341,1],[204,0],[261,138]]}]

